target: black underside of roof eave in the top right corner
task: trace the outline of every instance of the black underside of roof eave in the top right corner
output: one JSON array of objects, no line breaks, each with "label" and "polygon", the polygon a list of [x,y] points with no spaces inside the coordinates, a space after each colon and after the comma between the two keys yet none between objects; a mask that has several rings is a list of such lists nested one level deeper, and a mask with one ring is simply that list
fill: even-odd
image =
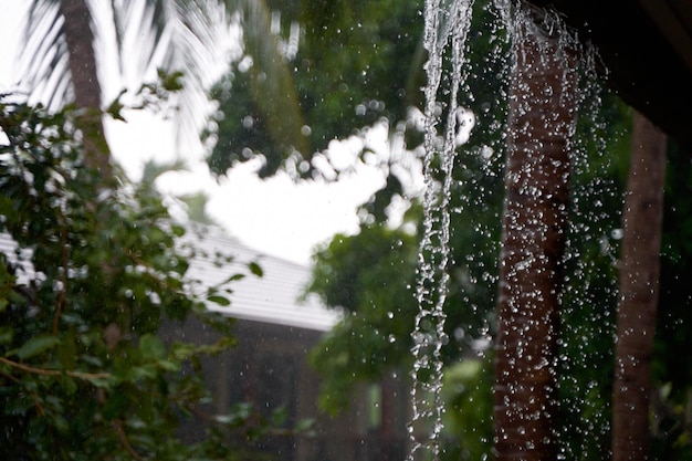
[{"label": "black underside of roof eave in the top right corner", "polygon": [[533,0],[594,43],[608,85],[659,128],[692,146],[692,8],[686,0]]}]

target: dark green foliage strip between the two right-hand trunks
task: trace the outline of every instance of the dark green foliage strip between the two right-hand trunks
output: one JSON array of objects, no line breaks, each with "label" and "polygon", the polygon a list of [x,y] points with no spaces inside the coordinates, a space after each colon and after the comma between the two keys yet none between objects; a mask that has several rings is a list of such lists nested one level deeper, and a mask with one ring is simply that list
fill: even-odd
[{"label": "dark green foliage strip between the two right-hand trunks", "polygon": [[570,459],[610,451],[620,213],[630,153],[627,106],[587,81],[575,135],[562,294],[560,444]]}]

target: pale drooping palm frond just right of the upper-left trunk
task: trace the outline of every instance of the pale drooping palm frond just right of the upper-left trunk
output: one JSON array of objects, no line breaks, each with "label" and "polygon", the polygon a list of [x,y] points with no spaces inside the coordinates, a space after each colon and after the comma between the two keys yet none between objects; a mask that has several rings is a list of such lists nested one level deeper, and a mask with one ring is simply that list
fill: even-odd
[{"label": "pale drooping palm frond just right of the upper-left trunk", "polygon": [[184,73],[178,95],[179,133],[198,139],[208,109],[207,88],[222,70],[228,28],[213,0],[113,0],[120,67],[137,86],[157,69]]}]

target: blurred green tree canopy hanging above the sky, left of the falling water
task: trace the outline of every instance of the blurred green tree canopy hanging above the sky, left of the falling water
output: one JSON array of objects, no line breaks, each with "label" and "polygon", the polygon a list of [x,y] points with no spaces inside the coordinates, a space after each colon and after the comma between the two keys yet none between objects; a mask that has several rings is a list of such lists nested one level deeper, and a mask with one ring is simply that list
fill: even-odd
[{"label": "blurred green tree canopy hanging above the sky, left of the falling water", "polygon": [[[297,161],[296,171],[307,175],[312,167],[302,160],[310,160],[332,139],[357,133],[380,117],[395,126],[406,118],[408,106],[420,102],[420,1],[303,0],[275,8],[283,13],[285,42],[292,21],[302,29],[297,53],[284,53],[291,72],[281,82],[270,82],[264,67],[271,63],[260,61],[265,57],[245,39],[243,59],[233,62],[211,91],[219,111],[217,128],[207,134],[214,138],[208,161],[217,174],[261,154],[265,159],[261,176],[273,175],[286,159]],[[261,90],[270,84],[285,87],[277,92],[282,98],[295,94],[301,113],[283,113],[292,106],[271,97],[273,91]],[[263,104],[272,104],[273,111]],[[276,105],[282,111],[275,111]],[[291,121],[302,121],[301,136],[289,136],[296,130],[286,126]]]}]

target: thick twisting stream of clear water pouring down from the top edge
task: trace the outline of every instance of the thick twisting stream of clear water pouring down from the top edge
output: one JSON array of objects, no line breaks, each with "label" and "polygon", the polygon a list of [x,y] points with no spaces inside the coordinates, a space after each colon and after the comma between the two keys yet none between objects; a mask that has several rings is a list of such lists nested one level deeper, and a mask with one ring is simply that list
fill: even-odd
[{"label": "thick twisting stream of clear water pouring down from the top edge", "polygon": [[[459,138],[464,109],[458,106],[457,96],[462,81],[465,39],[471,24],[471,7],[473,1],[453,1],[448,8],[441,8],[440,0],[426,1],[424,46],[429,53],[426,64],[428,84],[426,86],[426,157],[423,175],[426,192],[423,198],[423,237],[418,255],[418,283],[416,298],[420,307],[412,333],[415,357],[411,377],[412,417],[408,426],[411,440],[409,460],[413,460],[418,450],[424,449],[432,453],[434,460],[440,453],[439,438],[442,430],[441,401],[442,359],[440,350],[448,342],[444,333],[444,301],[447,298],[450,259],[450,190],[454,149]],[[438,90],[444,70],[442,55],[451,43],[452,82],[449,95],[449,108],[444,136],[438,136],[437,125],[440,119],[441,106],[438,103]],[[460,136],[461,135],[461,136]],[[439,167],[433,166],[439,157]],[[439,168],[439,169],[438,169]],[[442,172],[441,191],[436,190],[436,174]],[[438,198],[440,197],[440,198]],[[426,440],[416,433],[417,423],[423,423],[431,430]]]}]

